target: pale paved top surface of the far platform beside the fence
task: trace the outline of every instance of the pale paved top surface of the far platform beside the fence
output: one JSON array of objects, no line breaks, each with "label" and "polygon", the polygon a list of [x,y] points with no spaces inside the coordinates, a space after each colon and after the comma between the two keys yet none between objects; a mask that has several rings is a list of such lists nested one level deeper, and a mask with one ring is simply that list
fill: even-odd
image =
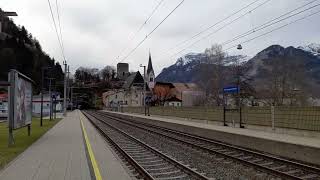
[{"label": "pale paved top surface of the far platform beside the fence", "polygon": [[107,111],[107,112],[116,113],[116,114],[123,114],[123,115],[130,115],[130,116],[135,116],[135,117],[140,117],[140,118],[148,118],[150,120],[156,120],[156,121],[173,122],[173,123],[177,123],[177,124],[200,127],[203,129],[211,129],[211,130],[215,130],[215,131],[227,132],[227,133],[232,133],[232,134],[254,136],[254,137],[258,137],[258,138],[262,138],[262,139],[269,139],[269,140],[274,140],[274,141],[280,141],[280,142],[286,142],[286,143],[292,143],[292,144],[300,144],[303,146],[320,148],[320,140],[318,138],[299,137],[299,136],[288,135],[288,134],[279,134],[279,133],[258,131],[258,130],[252,130],[252,129],[226,127],[226,126],[205,124],[205,123],[194,122],[194,121],[191,122],[191,121],[174,119],[173,117],[159,117],[159,116],[152,116],[152,115],[151,116],[144,116],[144,115],[140,115],[140,114],[119,113],[119,112],[113,112],[113,111]]}]

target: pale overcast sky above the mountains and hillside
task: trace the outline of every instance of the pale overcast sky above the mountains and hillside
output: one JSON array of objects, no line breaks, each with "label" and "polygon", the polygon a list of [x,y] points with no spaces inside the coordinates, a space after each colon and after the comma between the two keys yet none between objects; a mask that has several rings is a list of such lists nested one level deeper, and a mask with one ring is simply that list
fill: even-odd
[{"label": "pale overcast sky above the mountains and hillside", "polygon": [[[116,65],[116,57],[125,56],[141,41],[181,0],[164,0],[149,23],[144,26],[132,41],[132,33],[143,24],[148,15],[160,0],[60,0],[60,19],[62,27],[65,55],[74,71],[79,66],[102,68],[106,65]],[[213,34],[194,46],[187,48],[172,57],[188,44],[178,47],[182,42],[202,29],[215,24],[254,0],[185,0],[184,3],[124,62],[130,64],[130,70],[139,69],[139,64],[147,64],[148,51],[153,56],[153,67],[156,74],[164,67],[175,63],[182,54],[202,52],[213,43],[222,43],[232,37],[246,32],[268,20],[301,6],[311,0],[271,0],[260,8],[248,13],[239,21]],[[261,4],[261,0],[244,10],[246,13]],[[315,2],[313,5],[316,5]],[[51,0],[56,16],[55,0]],[[41,43],[44,51],[56,60],[62,62],[61,51],[55,34],[47,0],[1,0],[0,7],[5,11],[16,11],[18,17],[14,21],[23,25]],[[319,11],[316,7],[309,12]],[[308,12],[305,14],[306,15]],[[238,15],[238,16],[239,16]],[[234,18],[238,17],[235,16]],[[299,16],[301,17],[301,16]],[[294,19],[294,18],[293,18]],[[290,19],[290,20],[293,20]],[[317,14],[267,36],[243,44],[243,50],[236,48],[228,50],[229,54],[245,54],[254,56],[262,49],[272,44],[283,46],[300,46],[310,43],[320,43],[320,15]],[[224,22],[224,24],[230,22]],[[289,22],[285,21],[284,23]],[[208,33],[224,25],[216,26]],[[279,24],[281,25],[281,24]],[[278,26],[279,26],[278,25]],[[276,27],[276,26],[274,26]],[[266,29],[268,31],[270,29]],[[256,32],[251,37],[262,34]],[[203,35],[205,36],[206,33]],[[202,36],[200,36],[202,37]],[[250,39],[240,39],[231,45]],[[195,39],[197,40],[197,39]],[[195,41],[194,40],[194,41]],[[192,43],[193,41],[189,42]],[[121,59],[121,58],[120,58]]]}]

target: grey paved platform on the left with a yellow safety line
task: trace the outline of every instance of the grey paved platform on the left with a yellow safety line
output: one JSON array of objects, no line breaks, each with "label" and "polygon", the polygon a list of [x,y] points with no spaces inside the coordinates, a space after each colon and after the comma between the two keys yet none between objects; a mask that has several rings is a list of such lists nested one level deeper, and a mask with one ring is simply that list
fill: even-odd
[{"label": "grey paved platform on the left with a yellow safety line", "polygon": [[0,171],[1,180],[132,179],[99,132],[73,111]]}]

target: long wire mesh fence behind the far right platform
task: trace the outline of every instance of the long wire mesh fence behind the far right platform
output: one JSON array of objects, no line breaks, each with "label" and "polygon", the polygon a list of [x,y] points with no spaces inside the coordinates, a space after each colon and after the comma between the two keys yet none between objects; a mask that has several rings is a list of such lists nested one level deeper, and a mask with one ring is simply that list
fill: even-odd
[{"label": "long wire mesh fence behind the far right platform", "polygon": [[[124,107],[124,112],[144,114],[143,107]],[[222,107],[150,107],[151,115],[223,121]],[[320,131],[320,107],[243,107],[244,125]],[[238,112],[226,113],[227,123],[239,123]]]}]

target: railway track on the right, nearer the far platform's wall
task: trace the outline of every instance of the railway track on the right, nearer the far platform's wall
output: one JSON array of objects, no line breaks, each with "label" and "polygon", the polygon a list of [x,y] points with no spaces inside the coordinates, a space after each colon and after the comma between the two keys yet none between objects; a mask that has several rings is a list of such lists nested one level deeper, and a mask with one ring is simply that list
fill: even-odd
[{"label": "railway track on the right, nearer the far platform's wall", "polygon": [[96,112],[96,114],[100,117],[118,121],[131,127],[141,129],[148,133],[163,136],[172,141],[188,145],[192,148],[201,150],[206,153],[218,154],[224,158],[246,164],[247,166],[254,167],[282,179],[320,179],[320,169],[317,167],[231,146],[221,142],[174,131],[163,127],[158,127],[138,121],[128,121],[103,112]]}]

